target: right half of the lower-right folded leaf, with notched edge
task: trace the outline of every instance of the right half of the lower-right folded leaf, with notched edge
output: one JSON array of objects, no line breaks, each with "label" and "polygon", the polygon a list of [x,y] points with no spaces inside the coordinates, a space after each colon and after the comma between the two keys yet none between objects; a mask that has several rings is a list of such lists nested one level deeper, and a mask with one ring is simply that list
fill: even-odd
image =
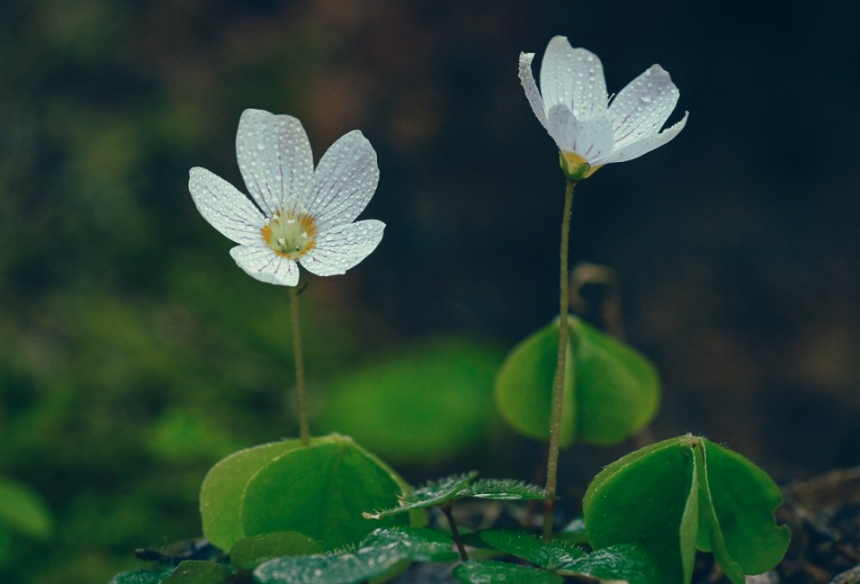
[{"label": "right half of the lower-right folded leaf, with notched edge", "polygon": [[783,496],[764,471],[740,454],[709,440],[701,446],[696,452],[706,472],[699,473],[699,501],[708,548],[730,580],[743,584],[746,574],[772,569],[788,550],[789,529],[777,526],[774,517]]}]

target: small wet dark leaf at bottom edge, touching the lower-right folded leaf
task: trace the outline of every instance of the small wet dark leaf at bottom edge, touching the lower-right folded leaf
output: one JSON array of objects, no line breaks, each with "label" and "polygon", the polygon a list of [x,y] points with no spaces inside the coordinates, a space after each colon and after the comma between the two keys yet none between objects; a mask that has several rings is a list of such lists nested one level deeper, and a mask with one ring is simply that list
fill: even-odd
[{"label": "small wet dark leaf at bottom edge, touching the lower-right folded leaf", "polygon": [[654,556],[638,544],[611,545],[597,550],[569,562],[559,573],[599,580],[627,580],[629,584],[665,584]]}]

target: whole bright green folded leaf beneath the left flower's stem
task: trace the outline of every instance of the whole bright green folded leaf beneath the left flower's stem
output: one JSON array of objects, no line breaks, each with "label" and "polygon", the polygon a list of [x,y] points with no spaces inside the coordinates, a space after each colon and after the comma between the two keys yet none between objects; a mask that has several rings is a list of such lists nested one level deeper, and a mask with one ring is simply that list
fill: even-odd
[{"label": "whole bright green folded leaf beneath the left flower's stem", "polygon": [[345,436],[258,446],[221,461],[203,482],[203,534],[224,549],[279,531],[298,531],[324,549],[354,544],[379,526],[362,512],[395,504],[405,488],[386,464]]}]

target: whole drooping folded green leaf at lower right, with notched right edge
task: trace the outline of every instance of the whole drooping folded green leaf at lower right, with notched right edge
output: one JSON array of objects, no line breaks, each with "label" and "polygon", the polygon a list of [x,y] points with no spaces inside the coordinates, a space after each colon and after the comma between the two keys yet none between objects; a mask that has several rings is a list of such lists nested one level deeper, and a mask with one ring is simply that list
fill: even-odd
[{"label": "whole drooping folded green leaf at lower right, with notched right edge", "polygon": [[736,584],[779,562],[789,540],[776,526],[782,497],[765,472],[703,438],[650,445],[607,466],[588,487],[590,543],[641,544],[669,583],[689,582],[695,550],[713,551]]}]

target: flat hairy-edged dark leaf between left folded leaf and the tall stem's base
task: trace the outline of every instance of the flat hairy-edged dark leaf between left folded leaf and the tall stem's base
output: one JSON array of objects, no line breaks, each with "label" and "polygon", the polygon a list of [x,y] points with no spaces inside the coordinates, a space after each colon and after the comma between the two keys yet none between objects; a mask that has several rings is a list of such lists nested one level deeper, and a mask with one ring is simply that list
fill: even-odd
[{"label": "flat hairy-edged dark leaf between left folded leaf and the tall stem's base", "polygon": [[450,505],[457,499],[529,500],[547,499],[547,493],[539,487],[509,479],[481,479],[476,481],[477,471],[454,474],[438,481],[429,481],[420,489],[411,490],[399,500],[394,508],[364,512],[369,519],[390,517],[414,509]]}]

